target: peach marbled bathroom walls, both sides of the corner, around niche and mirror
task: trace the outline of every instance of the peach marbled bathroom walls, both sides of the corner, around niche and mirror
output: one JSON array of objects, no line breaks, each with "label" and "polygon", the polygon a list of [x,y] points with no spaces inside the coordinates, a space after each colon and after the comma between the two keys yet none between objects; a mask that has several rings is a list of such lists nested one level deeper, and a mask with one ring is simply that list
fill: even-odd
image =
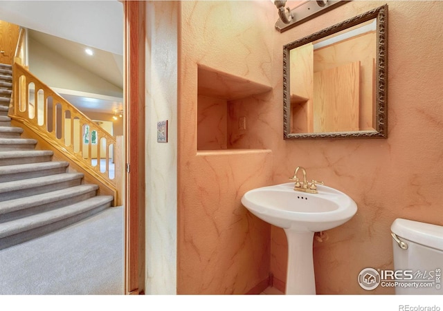
[{"label": "peach marbled bathroom walls, both sides of the corner, around niche and mirror", "polygon": [[[178,294],[242,294],[269,272],[284,286],[284,232],[249,214],[240,199],[287,182],[297,166],[359,207],[314,242],[318,294],[392,294],[356,282],[365,267],[393,268],[392,221],[443,225],[443,1],[388,1],[388,139],[283,140],[282,46],[385,3],[352,1],[280,33],[271,1],[181,1]],[[197,152],[197,64],[273,87],[229,111],[228,122],[246,116],[246,132],[235,134],[243,149]]]}]

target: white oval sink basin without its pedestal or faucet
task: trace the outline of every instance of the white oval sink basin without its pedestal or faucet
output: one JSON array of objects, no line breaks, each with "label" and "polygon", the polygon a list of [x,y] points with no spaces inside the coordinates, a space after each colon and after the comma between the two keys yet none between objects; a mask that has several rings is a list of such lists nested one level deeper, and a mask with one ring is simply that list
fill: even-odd
[{"label": "white oval sink basin without its pedestal or faucet", "polygon": [[258,218],[284,229],[320,232],[350,220],[357,206],[346,194],[318,185],[318,194],[294,191],[293,182],[246,192],[242,204]]}]

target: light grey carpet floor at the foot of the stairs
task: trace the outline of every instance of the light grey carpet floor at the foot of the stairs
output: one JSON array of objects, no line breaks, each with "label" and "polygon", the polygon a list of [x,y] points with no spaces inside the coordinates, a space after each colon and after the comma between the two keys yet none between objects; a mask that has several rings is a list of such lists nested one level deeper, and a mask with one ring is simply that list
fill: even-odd
[{"label": "light grey carpet floor at the foot of the stairs", "polygon": [[123,207],[0,250],[0,294],[123,294]]}]

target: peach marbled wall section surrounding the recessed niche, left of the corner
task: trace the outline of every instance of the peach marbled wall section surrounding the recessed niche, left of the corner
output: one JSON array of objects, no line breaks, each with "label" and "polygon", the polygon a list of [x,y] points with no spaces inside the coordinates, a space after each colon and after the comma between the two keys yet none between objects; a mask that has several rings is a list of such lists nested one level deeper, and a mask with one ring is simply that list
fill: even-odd
[{"label": "peach marbled wall section surrounding the recessed niche, left of the corner", "polygon": [[268,279],[271,227],[248,214],[240,200],[248,189],[271,182],[272,154],[266,149],[197,152],[197,124],[204,123],[197,121],[197,65],[269,88],[270,4],[180,2],[178,294],[244,294]]}]

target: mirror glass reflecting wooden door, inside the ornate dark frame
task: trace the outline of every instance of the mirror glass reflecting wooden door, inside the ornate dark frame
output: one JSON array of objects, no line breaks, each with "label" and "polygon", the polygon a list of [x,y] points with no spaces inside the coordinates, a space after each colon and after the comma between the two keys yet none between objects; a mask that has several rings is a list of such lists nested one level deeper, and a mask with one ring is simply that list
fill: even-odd
[{"label": "mirror glass reflecting wooden door, inside the ornate dark frame", "polygon": [[376,19],[289,52],[291,133],[375,130]]}]

